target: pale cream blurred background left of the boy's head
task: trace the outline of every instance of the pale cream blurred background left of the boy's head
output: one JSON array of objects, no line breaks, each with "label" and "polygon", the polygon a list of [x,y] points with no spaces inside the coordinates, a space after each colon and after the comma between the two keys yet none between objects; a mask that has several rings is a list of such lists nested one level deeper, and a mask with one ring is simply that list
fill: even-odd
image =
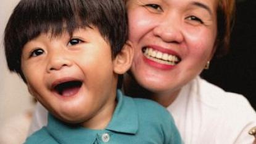
[{"label": "pale cream blurred background left of the boy's head", "polygon": [[4,56],[4,28],[18,2],[19,0],[1,0],[0,4],[0,124],[33,107],[32,97],[28,94],[26,85],[16,74],[10,74]]}]

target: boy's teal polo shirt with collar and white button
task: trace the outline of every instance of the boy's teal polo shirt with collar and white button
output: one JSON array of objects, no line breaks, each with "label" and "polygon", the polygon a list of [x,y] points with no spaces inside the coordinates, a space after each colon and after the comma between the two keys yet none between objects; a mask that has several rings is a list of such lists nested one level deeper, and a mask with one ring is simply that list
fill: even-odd
[{"label": "boy's teal polo shirt with collar and white button", "polygon": [[117,91],[117,107],[105,129],[70,126],[51,114],[48,124],[27,138],[30,143],[179,144],[181,137],[170,113],[156,102],[123,96]]}]

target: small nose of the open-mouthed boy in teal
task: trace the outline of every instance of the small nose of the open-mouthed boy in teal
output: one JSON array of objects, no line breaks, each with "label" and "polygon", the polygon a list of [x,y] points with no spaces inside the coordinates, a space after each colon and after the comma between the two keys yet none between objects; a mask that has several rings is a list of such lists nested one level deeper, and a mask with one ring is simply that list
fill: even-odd
[{"label": "small nose of the open-mouthed boy in teal", "polygon": [[72,61],[68,58],[68,53],[63,51],[54,51],[49,56],[47,72],[53,72],[70,66],[72,66]]}]

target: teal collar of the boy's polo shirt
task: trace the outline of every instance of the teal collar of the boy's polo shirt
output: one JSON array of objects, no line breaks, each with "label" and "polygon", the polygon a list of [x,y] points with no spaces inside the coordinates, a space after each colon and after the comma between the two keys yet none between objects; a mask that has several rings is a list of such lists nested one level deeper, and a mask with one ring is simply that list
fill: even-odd
[{"label": "teal collar of the boy's polo shirt", "polygon": [[131,97],[123,96],[117,91],[117,107],[109,125],[103,130],[86,129],[85,127],[68,126],[51,114],[48,115],[47,131],[59,143],[94,143],[97,135],[102,132],[114,131],[126,134],[136,134],[139,128],[138,112]]}]

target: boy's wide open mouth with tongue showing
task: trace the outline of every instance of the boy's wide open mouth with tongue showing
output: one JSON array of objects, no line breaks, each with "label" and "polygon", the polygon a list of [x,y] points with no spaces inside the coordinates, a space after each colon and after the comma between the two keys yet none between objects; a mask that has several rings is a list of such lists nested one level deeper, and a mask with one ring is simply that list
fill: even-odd
[{"label": "boy's wide open mouth with tongue showing", "polygon": [[54,86],[54,91],[56,91],[60,96],[73,96],[78,93],[82,84],[82,81],[79,80],[65,81],[64,83],[59,83]]}]

